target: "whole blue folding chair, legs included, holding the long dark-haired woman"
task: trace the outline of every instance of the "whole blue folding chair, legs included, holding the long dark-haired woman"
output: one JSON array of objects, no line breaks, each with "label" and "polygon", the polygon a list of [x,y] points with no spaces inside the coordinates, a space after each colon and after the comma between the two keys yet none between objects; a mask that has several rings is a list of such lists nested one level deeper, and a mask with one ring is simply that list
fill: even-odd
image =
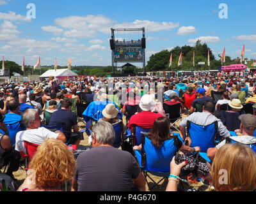
[{"label": "whole blue folding chair, legs included, holding the long dark-haired woman", "polygon": [[[152,142],[147,137],[147,135],[148,134],[144,133],[141,134],[142,149],[135,150],[134,152],[136,155],[136,159],[140,164],[141,170],[145,175],[148,189],[151,191],[162,180],[166,179],[167,182],[167,178],[170,175],[170,162],[172,161],[172,158],[175,156],[178,150],[175,140],[182,141],[182,138],[176,135],[172,139],[164,141],[162,147],[157,148],[152,145]],[[161,179],[156,182],[154,178],[148,175],[148,173],[156,177],[161,177]],[[154,183],[153,186],[150,187],[147,177],[152,180],[152,182]],[[165,187],[164,184],[162,185],[163,187]]]}]

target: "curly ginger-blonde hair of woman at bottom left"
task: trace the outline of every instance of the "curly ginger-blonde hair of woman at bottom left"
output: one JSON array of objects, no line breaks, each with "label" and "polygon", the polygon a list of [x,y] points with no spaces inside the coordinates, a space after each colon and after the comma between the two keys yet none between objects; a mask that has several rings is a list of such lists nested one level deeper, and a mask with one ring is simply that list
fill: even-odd
[{"label": "curly ginger-blonde hair of woman at bottom left", "polygon": [[35,171],[36,186],[54,187],[72,179],[76,159],[65,143],[47,139],[38,146],[29,168]]}]

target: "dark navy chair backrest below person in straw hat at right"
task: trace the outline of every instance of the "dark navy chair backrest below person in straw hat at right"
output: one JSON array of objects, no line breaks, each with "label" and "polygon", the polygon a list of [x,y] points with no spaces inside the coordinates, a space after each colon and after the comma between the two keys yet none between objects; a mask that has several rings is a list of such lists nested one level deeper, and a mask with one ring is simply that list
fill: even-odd
[{"label": "dark navy chair backrest below person in straw hat at right", "polygon": [[221,110],[221,122],[228,129],[228,131],[235,131],[236,129],[240,129],[241,120],[239,120],[239,116],[242,112],[227,112]]}]

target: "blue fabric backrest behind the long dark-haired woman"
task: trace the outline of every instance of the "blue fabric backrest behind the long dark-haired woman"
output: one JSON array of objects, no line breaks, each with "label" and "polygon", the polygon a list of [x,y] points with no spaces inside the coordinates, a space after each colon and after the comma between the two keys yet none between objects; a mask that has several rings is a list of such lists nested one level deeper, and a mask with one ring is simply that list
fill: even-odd
[{"label": "blue fabric backrest behind the long dark-haired woman", "polygon": [[[180,137],[179,139],[182,141]],[[143,170],[169,173],[170,162],[178,150],[175,139],[172,138],[164,141],[163,146],[160,148],[155,147],[151,140],[145,135],[141,136],[141,140],[143,147],[141,151],[141,164],[143,165]],[[144,156],[145,158],[143,158]]]}]

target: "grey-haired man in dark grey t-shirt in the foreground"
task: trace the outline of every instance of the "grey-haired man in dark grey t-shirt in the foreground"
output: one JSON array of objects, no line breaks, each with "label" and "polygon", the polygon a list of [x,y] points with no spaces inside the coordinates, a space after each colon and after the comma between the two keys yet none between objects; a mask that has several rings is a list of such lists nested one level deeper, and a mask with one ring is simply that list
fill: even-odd
[{"label": "grey-haired man in dark grey t-shirt in the foreground", "polygon": [[136,159],[112,147],[115,131],[108,122],[92,127],[92,149],[79,154],[72,191],[145,191]]}]

